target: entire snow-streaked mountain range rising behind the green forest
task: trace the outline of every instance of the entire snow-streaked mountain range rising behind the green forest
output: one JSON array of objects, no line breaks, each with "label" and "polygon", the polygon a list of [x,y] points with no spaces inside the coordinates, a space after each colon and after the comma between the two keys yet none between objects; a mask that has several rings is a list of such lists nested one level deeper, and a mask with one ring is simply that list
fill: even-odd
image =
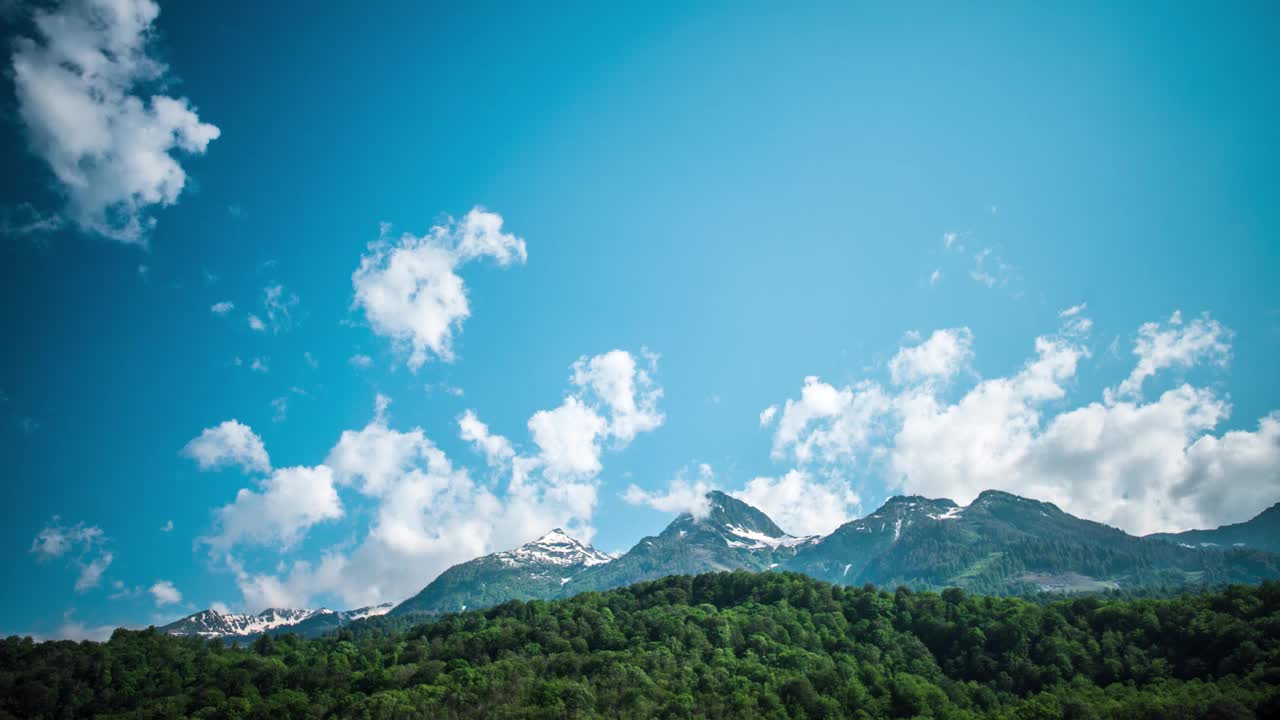
[{"label": "entire snow-streaked mountain range rising behind the green forest", "polygon": [[508,600],[553,600],[666,575],[792,570],[842,584],[960,587],[987,594],[1170,591],[1280,577],[1280,503],[1212,530],[1130,536],[1050,502],[986,491],[968,506],[897,496],[827,536],[796,537],[718,491],[698,516],[681,514],[613,556],[561,529],[515,550],[454,565],[392,607],[197,612],[163,632],[251,639],[314,637],[365,618],[431,616]]}]

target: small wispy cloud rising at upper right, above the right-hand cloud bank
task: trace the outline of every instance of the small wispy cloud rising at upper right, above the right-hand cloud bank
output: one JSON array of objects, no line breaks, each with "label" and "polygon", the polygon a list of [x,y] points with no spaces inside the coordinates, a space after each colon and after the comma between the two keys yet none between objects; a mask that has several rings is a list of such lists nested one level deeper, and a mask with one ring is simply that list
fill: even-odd
[{"label": "small wispy cloud rising at upper right, above the right-hand cloud bank", "polygon": [[1164,327],[1144,323],[1138,328],[1138,341],[1133,354],[1138,365],[1120,383],[1120,396],[1138,396],[1142,383],[1165,368],[1190,368],[1202,361],[1226,366],[1231,360],[1231,332],[1208,314],[1183,323],[1183,314],[1175,311]]}]

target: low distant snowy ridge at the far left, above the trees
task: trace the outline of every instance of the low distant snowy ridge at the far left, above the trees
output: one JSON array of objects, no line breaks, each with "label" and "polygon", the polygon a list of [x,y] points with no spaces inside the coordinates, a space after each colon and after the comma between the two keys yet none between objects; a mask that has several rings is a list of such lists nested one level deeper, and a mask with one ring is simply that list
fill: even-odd
[{"label": "low distant snowy ridge at the far left, above the trees", "polygon": [[202,638],[255,639],[264,633],[296,633],[312,638],[356,620],[383,615],[390,609],[390,603],[357,610],[269,607],[257,615],[204,610],[159,628],[159,630],[170,635]]}]

